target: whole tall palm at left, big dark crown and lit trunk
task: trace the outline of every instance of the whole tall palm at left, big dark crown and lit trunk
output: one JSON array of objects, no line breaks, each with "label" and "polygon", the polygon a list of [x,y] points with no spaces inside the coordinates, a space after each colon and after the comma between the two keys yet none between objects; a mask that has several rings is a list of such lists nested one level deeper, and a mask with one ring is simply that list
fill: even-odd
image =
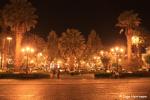
[{"label": "whole tall palm at left, big dark crown and lit trunk", "polygon": [[20,51],[23,34],[34,28],[37,21],[35,15],[36,9],[28,0],[10,0],[3,11],[2,16],[4,22],[15,33],[16,48],[15,48],[15,66],[16,69],[20,66]]}]

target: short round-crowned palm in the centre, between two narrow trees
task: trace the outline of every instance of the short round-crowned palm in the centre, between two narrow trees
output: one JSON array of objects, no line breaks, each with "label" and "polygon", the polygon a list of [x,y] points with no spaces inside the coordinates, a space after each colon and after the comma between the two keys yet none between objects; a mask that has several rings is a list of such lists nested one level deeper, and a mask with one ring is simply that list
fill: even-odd
[{"label": "short round-crowned palm in the centre, between two narrow trees", "polygon": [[76,29],[67,29],[59,39],[61,56],[68,60],[70,69],[74,69],[75,61],[78,60],[85,49],[85,39],[81,32]]}]

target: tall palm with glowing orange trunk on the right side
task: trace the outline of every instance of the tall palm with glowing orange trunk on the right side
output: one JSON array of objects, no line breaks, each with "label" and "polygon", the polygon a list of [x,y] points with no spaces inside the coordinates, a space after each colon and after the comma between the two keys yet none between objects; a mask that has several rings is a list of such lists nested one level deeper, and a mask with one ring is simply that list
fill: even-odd
[{"label": "tall palm with glowing orange trunk on the right side", "polygon": [[[133,10],[125,11],[120,14],[118,17],[117,26],[122,28],[125,31],[125,35],[127,38],[127,55],[128,55],[128,62],[131,61],[131,46],[132,41],[131,38],[133,36],[133,30],[139,26],[141,23],[141,19],[138,16],[138,13],[134,13]],[[122,30],[121,30],[122,32]]]}]

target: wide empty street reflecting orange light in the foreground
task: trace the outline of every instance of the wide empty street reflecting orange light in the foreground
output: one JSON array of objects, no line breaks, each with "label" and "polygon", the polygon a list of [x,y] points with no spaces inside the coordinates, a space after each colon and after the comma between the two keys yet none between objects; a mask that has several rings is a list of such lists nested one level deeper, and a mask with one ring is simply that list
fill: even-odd
[{"label": "wide empty street reflecting orange light in the foreground", "polygon": [[150,78],[0,80],[0,100],[150,100]]}]

